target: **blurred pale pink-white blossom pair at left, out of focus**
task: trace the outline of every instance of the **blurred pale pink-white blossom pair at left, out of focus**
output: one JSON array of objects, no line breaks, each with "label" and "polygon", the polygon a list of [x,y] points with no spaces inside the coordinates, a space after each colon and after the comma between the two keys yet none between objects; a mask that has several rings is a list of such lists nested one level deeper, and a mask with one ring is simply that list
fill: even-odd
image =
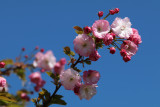
[{"label": "blurred pale pink-white blossom pair at left, out of focus", "polygon": [[38,52],[35,55],[35,60],[33,62],[34,67],[39,67],[45,70],[53,69],[56,64],[56,58],[52,51],[47,51],[45,54]]}]

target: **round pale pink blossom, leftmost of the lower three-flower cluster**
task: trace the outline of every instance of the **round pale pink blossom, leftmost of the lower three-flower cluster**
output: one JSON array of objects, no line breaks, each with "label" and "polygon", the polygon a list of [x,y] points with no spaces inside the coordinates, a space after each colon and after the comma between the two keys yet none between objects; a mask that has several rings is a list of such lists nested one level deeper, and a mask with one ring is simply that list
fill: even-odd
[{"label": "round pale pink blossom, leftmost of the lower three-flower cluster", "polygon": [[77,84],[80,84],[81,77],[77,71],[70,68],[61,73],[60,80],[66,90],[73,90]]}]

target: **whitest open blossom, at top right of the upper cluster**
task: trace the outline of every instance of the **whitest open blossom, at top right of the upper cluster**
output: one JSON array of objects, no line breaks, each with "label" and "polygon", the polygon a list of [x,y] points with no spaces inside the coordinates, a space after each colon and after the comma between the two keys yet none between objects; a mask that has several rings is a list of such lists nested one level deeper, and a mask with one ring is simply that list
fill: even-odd
[{"label": "whitest open blossom, at top right of the upper cluster", "polygon": [[111,25],[112,31],[120,38],[128,39],[133,34],[131,22],[128,17],[116,18]]}]

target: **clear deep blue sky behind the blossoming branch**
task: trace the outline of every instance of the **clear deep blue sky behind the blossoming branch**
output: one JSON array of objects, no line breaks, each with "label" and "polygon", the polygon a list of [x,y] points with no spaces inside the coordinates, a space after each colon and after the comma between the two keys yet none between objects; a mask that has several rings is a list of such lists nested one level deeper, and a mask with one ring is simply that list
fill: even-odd
[{"label": "clear deep blue sky behind the blossoming branch", "polygon": [[[0,59],[15,58],[21,47],[29,52],[36,45],[53,50],[58,60],[66,57],[62,48],[73,49],[73,26],[91,26],[98,11],[107,14],[118,7],[120,13],[108,21],[111,24],[117,16],[130,18],[143,41],[137,54],[124,63],[118,51],[111,55],[107,49],[100,50],[101,59],[86,66],[101,74],[97,95],[90,101],[81,101],[64,88],[58,93],[64,95],[66,107],[160,107],[159,4],[159,0],[1,0]],[[54,90],[51,79],[45,74],[43,78],[48,81],[45,88]],[[20,89],[15,75],[7,81],[12,83],[10,92]]]}]

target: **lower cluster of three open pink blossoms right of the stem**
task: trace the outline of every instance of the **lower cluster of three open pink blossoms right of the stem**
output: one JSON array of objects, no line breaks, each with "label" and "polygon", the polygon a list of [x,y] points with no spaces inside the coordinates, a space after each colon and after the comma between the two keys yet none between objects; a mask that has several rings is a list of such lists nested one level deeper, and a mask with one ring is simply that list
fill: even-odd
[{"label": "lower cluster of three open pink blossoms right of the stem", "polygon": [[67,69],[60,75],[62,85],[66,90],[73,90],[80,99],[91,99],[96,94],[100,74],[94,70],[83,72],[83,82],[80,74],[74,69]]}]

